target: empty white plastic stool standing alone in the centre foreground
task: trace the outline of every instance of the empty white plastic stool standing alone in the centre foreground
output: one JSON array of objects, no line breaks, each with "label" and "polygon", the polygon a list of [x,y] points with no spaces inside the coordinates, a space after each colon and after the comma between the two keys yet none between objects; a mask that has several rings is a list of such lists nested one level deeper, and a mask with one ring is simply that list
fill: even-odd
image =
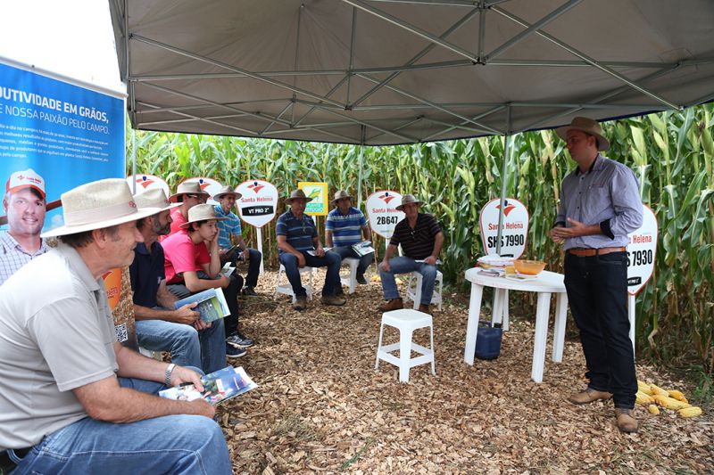
[{"label": "empty white plastic stool standing alone in the centre foreground", "polygon": [[[398,343],[382,347],[382,335],[384,334],[385,325],[399,329]],[[431,348],[424,348],[421,345],[411,342],[411,335],[414,330],[426,327],[429,327]],[[399,350],[399,357],[390,355],[390,352],[395,349]],[[412,350],[421,354],[421,356],[412,358]],[[431,373],[436,376],[436,364],[434,362],[434,325],[432,324],[431,315],[409,308],[392,310],[391,312],[382,314],[382,324],[379,326],[377,361],[374,365],[375,370],[379,368],[380,359],[385,360],[387,363],[394,364],[394,366],[399,368],[399,381],[402,382],[409,382],[409,370],[419,364],[431,363]]]}]

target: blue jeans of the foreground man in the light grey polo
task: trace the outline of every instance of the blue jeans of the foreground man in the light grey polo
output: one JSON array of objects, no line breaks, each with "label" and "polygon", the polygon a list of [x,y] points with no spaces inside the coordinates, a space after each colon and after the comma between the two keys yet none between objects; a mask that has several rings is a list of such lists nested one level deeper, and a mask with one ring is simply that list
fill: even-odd
[{"label": "blue jeans of the foreground man in the light grey polo", "polygon": [[[157,393],[162,383],[119,378],[121,387]],[[219,425],[201,415],[167,415],[128,424],[85,417],[34,446],[13,474],[230,474]]]}]

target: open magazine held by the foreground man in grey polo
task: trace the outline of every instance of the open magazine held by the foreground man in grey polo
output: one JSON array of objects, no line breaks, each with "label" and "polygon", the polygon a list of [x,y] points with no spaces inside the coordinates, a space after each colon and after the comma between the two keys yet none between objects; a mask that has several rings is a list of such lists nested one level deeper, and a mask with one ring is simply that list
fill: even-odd
[{"label": "open magazine held by the foreground man in grey polo", "polygon": [[258,387],[255,381],[248,376],[248,373],[245,373],[243,366],[237,368],[227,366],[222,370],[206,374],[201,378],[201,383],[203,384],[203,393],[195,389],[193,384],[188,384],[159,391],[159,396],[179,401],[203,398],[212,405],[217,405],[221,401],[237,397]]}]

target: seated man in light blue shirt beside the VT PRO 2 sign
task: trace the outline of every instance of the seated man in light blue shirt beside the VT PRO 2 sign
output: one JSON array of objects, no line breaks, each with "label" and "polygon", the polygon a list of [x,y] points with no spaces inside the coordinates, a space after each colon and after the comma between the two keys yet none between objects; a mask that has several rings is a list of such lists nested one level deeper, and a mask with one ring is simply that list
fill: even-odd
[{"label": "seated man in light blue shirt beside the VT PRO 2 sign", "polygon": [[[242,293],[255,296],[258,295],[254,289],[258,285],[258,274],[261,274],[262,254],[258,250],[248,249],[241,233],[240,219],[231,211],[240,196],[240,193],[234,192],[230,186],[224,186],[220,192],[213,195],[213,200],[220,202],[216,205],[216,216],[226,218],[218,223],[220,262],[231,262],[233,266],[237,266],[238,261],[247,262],[248,274],[245,276],[245,287]],[[233,236],[238,247],[228,253],[232,247],[230,236]]]}]

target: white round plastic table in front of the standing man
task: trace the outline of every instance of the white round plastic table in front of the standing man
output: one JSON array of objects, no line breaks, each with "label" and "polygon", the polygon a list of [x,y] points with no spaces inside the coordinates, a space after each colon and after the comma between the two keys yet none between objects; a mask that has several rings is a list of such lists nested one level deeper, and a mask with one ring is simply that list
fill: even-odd
[{"label": "white round plastic table in front of the standing man", "polygon": [[[471,298],[469,300],[469,322],[466,325],[466,348],[463,354],[464,362],[470,365],[474,364],[478,319],[481,313],[481,298],[483,296],[484,287],[493,287],[496,290],[537,292],[538,303],[535,311],[535,342],[533,346],[531,378],[535,382],[543,381],[545,343],[548,340],[548,318],[552,293],[557,294],[552,360],[560,363],[563,356],[566,310],[568,308],[568,296],[565,292],[565,285],[563,284],[563,274],[544,271],[538,274],[537,278],[533,280],[520,281],[507,279],[503,276],[492,277],[480,274],[481,271],[482,269],[480,267],[474,267],[466,271],[466,280],[471,283]],[[505,292],[503,292],[503,295],[505,295]],[[508,301],[503,301],[501,305],[508,306]],[[500,309],[496,311],[499,312]]]}]

